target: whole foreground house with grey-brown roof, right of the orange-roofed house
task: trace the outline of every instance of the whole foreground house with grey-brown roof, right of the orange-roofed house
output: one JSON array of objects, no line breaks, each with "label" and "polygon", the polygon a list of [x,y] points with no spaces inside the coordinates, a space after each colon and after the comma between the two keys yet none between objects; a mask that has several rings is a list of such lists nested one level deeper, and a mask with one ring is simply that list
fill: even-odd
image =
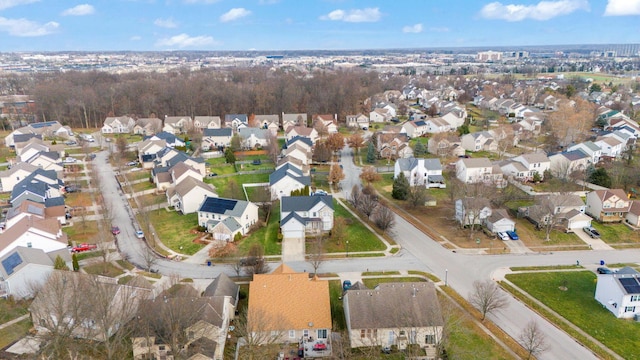
[{"label": "whole foreground house with grey-brown roof, right of the orange-roofed house", "polygon": [[444,319],[432,282],[382,283],[343,296],[349,343],[356,347],[417,345],[435,359]]}]

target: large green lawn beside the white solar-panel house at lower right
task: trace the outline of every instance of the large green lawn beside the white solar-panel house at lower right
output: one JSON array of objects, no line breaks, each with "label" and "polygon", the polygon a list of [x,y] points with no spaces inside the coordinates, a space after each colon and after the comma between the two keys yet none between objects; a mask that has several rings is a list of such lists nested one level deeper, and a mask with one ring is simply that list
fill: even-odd
[{"label": "large green lawn beside the white solar-panel house at lower right", "polygon": [[[594,299],[590,271],[510,274],[507,279],[625,359],[640,359],[640,322],[617,319]],[[560,289],[566,286],[567,290]]]}]

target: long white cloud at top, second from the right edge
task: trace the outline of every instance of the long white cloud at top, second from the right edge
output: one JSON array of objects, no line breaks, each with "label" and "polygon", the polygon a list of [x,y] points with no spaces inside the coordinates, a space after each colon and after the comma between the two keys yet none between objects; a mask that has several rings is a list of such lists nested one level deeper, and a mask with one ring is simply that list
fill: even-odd
[{"label": "long white cloud at top, second from the right edge", "polygon": [[522,21],[525,19],[549,20],[556,16],[571,14],[577,10],[589,11],[587,0],[556,0],[540,1],[534,5],[504,5],[492,2],[480,10],[480,15],[486,19],[506,21]]}]

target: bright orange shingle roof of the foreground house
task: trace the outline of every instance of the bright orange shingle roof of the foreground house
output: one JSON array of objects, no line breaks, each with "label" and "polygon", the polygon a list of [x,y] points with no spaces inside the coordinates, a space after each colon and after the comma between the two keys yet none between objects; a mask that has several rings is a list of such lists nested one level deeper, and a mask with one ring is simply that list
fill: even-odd
[{"label": "bright orange shingle roof of the foreground house", "polygon": [[285,264],[256,274],[249,284],[248,317],[254,331],[331,329],[329,282]]}]

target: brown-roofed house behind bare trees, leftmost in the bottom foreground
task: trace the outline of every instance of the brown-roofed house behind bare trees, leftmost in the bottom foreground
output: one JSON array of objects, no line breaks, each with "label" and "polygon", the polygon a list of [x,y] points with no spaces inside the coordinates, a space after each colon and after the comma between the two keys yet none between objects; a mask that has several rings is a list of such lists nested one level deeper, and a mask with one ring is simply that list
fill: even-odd
[{"label": "brown-roofed house behind bare trees, leftmost in the bottom foreground", "polygon": [[58,329],[76,338],[105,341],[134,318],[140,303],[150,295],[151,291],[146,288],[56,270],[36,295],[29,311],[38,332]]}]

